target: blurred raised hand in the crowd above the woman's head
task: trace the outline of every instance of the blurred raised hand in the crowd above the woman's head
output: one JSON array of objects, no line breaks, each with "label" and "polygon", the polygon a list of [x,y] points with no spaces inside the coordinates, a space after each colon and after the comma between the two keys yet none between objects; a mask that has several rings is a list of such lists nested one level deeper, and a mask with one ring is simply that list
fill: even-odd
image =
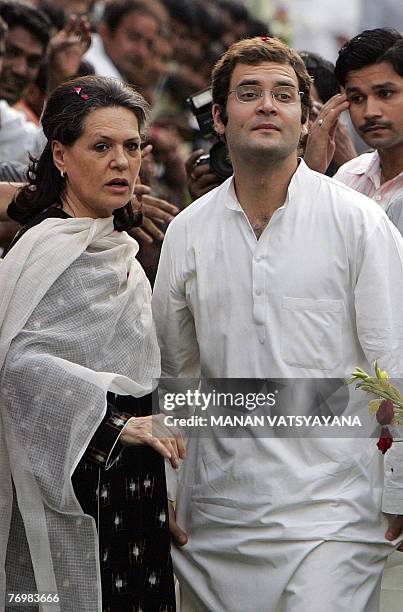
[{"label": "blurred raised hand in the crowd above the woman's head", "polygon": [[63,30],[57,32],[49,42],[49,91],[77,74],[81,59],[90,44],[91,26],[88,19],[72,15]]}]

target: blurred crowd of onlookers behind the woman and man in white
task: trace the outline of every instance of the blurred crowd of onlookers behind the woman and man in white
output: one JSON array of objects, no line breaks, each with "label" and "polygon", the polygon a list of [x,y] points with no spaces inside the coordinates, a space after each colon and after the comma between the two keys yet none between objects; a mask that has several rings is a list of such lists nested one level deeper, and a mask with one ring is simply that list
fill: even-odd
[{"label": "blurred crowd of onlookers behind the woman and man in white", "polygon": [[[208,111],[208,94],[193,99],[194,112],[188,102],[209,87],[221,54],[236,40],[271,35],[304,51],[314,119],[338,91],[332,62],[341,45],[367,27],[403,28],[397,0],[0,0],[0,18],[0,181],[24,180],[29,155],[44,144],[46,97],[66,79],[113,76],[150,103],[144,146],[152,147],[141,171],[150,187],[148,218],[136,237],[151,282],[164,225],[227,171],[225,160],[218,159],[216,172],[203,164],[214,135],[209,125],[200,132],[205,117],[198,122],[194,112]],[[348,125],[343,129],[329,174],[365,148],[350,142]],[[0,224],[3,246],[13,231],[12,223]]]}]

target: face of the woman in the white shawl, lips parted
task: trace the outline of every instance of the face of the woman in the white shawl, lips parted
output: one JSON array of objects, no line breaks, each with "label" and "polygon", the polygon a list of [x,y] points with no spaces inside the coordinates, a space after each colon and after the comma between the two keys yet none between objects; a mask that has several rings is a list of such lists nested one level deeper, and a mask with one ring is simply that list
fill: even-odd
[{"label": "face of the woman in the white shawl, lips parted", "polygon": [[99,108],[83,128],[73,145],[52,145],[55,164],[66,177],[63,204],[76,217],[110,217],[130,200],[140,170],[137,118],[124,107]]}]

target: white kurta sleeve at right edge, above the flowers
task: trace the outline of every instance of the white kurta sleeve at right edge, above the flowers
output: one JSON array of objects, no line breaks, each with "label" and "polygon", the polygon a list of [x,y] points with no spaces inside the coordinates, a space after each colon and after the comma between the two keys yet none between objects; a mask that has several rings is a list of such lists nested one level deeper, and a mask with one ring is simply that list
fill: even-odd
[{"label": "white kurta sleeve at right edge, above the flowers", "polygon": [[[370,363],[403,381],[403,239],[383,217],[364,245],[355,289],[357,330]],[[403,514],[403,442],[385,461],[384,512]]]}]

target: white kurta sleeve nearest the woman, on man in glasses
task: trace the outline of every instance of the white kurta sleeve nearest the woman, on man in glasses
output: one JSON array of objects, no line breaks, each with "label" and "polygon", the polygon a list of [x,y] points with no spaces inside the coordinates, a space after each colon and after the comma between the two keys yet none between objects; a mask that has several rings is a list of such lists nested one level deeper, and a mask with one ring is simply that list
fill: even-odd
[{"label": "white kurta sleeve nearest the woman, on man in glasses", "polygon": [[[161,350],[161,376],[194,379],[200,376],[200,358],[194,319],[186,302],[183,244],[184,237],[173,236],[171,227],[168,228],[162,245],[152,306]],[[174,501],[178,473],[168,461],[166,474],[168,499]]]}]

